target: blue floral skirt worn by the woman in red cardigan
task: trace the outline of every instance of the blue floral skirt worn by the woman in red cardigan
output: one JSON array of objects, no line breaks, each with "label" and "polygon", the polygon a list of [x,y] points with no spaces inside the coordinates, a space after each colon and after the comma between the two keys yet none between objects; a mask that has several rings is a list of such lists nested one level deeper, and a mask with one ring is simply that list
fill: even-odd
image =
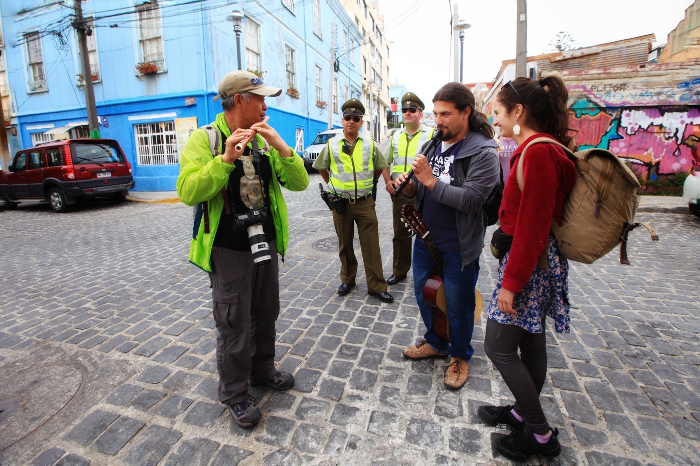
[{"label": "blue floral skirt worn by the woman in red cardigan", "polygon": [[517,325],[528,332],[542,333],[542,320],[545,316],[554,319],[554,326],[559,333],[570,333],[570,315],[568,302],[568,260],[559,255],[559,246],[554,234],[549,235],[547,262],[549,269],[535,270],[523,289],[515,295],[513,307],[517,313],[505,313],[498,309],[498,293],[503,283],[503,271],[508,263],[510,251],[500,260],[498,283],[493,290],[489,304],[489,318],[503,324]]}]

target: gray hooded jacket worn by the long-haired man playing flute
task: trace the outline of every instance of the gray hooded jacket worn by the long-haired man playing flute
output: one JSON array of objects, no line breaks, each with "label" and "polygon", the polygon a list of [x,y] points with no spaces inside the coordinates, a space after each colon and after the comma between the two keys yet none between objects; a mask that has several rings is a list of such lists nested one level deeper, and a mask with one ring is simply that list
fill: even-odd
[{"label": "gray hooded jacket worn by the long-haired man playing flute", "polygon": [[[463,164],[458,161],[467,157],[472,157],[472,160],[465,178]],[[465,265],[474,262],[484,249],[484,204],[500,183],[498,143],[481,132],[470,131],[454,158],[454,186],[438,181],[430,199],[456,209],[462,264]],[[421,211],[425,190],[417,180],[416,183],[419,188],[416,209]]]}]

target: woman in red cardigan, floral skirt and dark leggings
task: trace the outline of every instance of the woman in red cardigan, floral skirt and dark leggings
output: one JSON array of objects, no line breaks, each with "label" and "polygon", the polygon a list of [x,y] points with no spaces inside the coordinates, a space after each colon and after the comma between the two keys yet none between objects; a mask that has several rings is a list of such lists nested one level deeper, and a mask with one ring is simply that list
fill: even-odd
[{"label": "woman in red cardigan, floral skirt and dark leggings", "polygon": [[561,453],[559,430],[549,426],[540,392],[547,377],[546,316],[554,318],[557,332],[570,332],[568,262],[559,255],[551,227],[552,218],[561,225],[576,168],[552,143],[528,148],[522,190],[516,168],[524,148],[537,137],[568,145],[572,138],[567,101],[568,91],[559,76],[517,78],[501,87],[493,108],[493,125],[500,127],[503,136],[514,139],[518,149],[510,160],[503,190],[501,226],[491,241],[500,267],[484,349],[515,403],[479,407],[479,416],[491,425],[507,424],[514,429],[496,441],[498,451],[514,460]]}]

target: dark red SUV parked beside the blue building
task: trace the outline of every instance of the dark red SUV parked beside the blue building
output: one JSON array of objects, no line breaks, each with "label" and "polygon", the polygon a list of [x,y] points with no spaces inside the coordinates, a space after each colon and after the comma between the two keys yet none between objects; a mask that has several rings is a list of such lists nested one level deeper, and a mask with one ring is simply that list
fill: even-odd
[{"label": "dark red SUV parked beside the blue building", "polygon": [[61,213],[84,197],[118,204],[131,188],[131,164],[113,139],[67,139],[20,150],[8,171],[0,171],[0,199],[8,209],[45,200]]}]

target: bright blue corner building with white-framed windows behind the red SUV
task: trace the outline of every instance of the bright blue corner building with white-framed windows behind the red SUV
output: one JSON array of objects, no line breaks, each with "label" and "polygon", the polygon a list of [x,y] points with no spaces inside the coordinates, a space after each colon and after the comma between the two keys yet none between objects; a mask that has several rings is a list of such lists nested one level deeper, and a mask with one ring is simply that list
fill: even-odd
[{"label": "bright blue corner building with white-framed windows behind the red SUV", "polygon": [[[22,148],[87,137],[85,78],[103,138],[120,142],[136,190],[174,190],[190,132],[221,113],[211,99],[241,64],[286,92],[267,99],[270,124],[297,151],[340,127],[362,97],[362,38],[338,0],[83,0],[91,74],[78,54],[73,3],[0,0],[7,73]],[[333,60],[337,57],[337,60]]]}]

